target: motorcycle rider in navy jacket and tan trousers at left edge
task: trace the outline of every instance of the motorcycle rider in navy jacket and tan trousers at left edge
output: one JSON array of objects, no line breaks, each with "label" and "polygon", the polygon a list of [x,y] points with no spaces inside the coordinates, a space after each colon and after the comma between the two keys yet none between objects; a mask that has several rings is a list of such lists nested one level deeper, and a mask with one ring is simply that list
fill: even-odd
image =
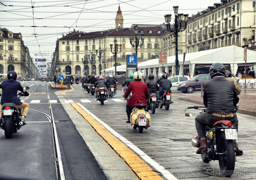
[{"label": "motorcycle rider in navy jacket and tan trousers at left edge", "polygon": [[25,125],[25,117],[28,113],[29,104],[18,100],[17,91],[21,91],[25,96],[29,96],[29,93],[20,85],[20,82],[16,81],[16,79],[17,73],[11,70],[7,74],[7,80],[0,84],[0,88],[2,88],[0,111],[2,112],[4,103],[14,103],[18,109],[23,109],[21,113],[21,121],[23,122],[23,125]]}]

